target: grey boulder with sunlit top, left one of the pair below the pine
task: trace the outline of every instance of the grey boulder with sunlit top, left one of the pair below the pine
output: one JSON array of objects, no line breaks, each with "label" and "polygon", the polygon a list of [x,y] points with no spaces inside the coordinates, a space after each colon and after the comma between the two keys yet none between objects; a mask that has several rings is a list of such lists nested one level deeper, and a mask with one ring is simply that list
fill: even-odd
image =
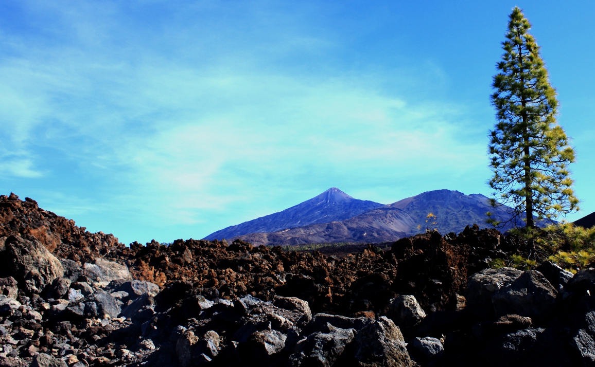
[{"label": "grey boulder with sunlit top, left one of the pair below the pine", "polygon": [[521,270],[515,268],[488,268],[473,274],[468,280],[465,289],[467,309],[481,319],[493,317],[494,308],[491,302],[492,296],[501,288],[511,284],[516,278],[520,277],[522,273]]}]

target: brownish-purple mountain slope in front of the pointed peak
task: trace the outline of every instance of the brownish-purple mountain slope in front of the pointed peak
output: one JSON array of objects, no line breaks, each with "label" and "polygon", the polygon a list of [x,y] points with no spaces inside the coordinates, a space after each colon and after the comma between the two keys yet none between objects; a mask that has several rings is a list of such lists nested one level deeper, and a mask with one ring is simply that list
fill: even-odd
[{"label": "brownish-purple mountain slope in front of the pointed peak", "polygon": [[310,224],[273,233],[250,233],[236,238],[255,246],[323,242],[378,243],[406,237],[414,225],[414,219],[403,210],[383,206],[341,222]]}]

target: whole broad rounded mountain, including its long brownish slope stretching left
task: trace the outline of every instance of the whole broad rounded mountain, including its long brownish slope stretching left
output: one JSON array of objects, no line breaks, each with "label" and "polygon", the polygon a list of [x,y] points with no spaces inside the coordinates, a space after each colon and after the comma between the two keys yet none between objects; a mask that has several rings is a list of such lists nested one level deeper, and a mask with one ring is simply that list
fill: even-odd
[{"label": "whole broad rounded mountain, including its long brownish slope stretching left", "polygon": [[[459,191],[427,191],[396,203],[365,211],[340,222],[317,223],[276,230],[273,232],[249,233],[228,239],[242,239],[253,245],[300,245],[324,242],[378,243],[424,232],[428,213],[437,219],[440,233],[459,233],[466,226],[478,224],[480,228],[491,227],[486,223],[486,213],[491,211],[499,219],[509,218],[503,207],[493,208],[489,198],[481,194],[465,195]],[[249,222],[248,222],[249,223]],[[419,228],[418,228],[419,226]],[[504,227],[500,230],[508,230]]]}]

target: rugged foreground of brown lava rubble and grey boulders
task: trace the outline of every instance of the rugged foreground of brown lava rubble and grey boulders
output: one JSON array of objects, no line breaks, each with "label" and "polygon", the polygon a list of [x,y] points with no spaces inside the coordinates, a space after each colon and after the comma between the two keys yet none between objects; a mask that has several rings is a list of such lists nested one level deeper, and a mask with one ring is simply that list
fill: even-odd
[{"label": "rugged foreground of brown lava rubble and grey boulders", "polygon": [[477,226],[341,259],[127,247],[0,195],[0,365],[595,365],[595,269],[488,268],[519,251]]}]

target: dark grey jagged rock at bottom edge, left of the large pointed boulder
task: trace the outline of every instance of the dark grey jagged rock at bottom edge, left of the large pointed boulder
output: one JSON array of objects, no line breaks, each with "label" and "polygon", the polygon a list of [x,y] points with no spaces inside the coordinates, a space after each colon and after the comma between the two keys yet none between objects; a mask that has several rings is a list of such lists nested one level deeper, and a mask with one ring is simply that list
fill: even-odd
[{"label": "dark grey jagged rock at bottom edge, left of the large pointed boulder", "polygon": [[296,344],[296,352],[289,357],[289,365],[330,367],[341,356],[347,344],[355,335],[353,329],[342,329],[326,325],[325,333],[310,334]]}]

